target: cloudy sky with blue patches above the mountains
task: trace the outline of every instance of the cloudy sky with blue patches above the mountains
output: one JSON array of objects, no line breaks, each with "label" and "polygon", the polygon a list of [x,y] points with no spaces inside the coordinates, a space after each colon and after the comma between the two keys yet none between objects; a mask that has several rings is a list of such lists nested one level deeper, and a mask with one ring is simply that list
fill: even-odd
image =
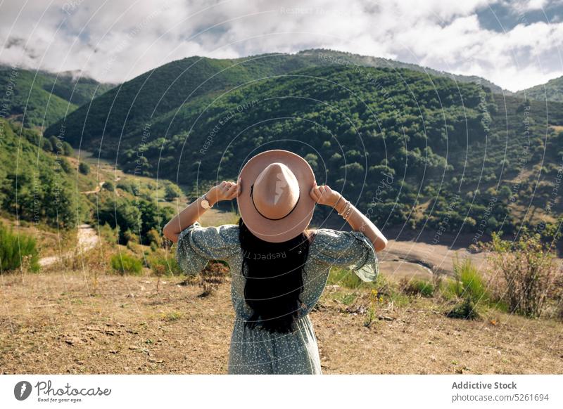
[{"label": "cloudy sky with blue patches above the mountains", "polygon": [[190,56],[331,48],[478,75],[563,75],[563,0],[0,0],[0,63],[119,83]]}]

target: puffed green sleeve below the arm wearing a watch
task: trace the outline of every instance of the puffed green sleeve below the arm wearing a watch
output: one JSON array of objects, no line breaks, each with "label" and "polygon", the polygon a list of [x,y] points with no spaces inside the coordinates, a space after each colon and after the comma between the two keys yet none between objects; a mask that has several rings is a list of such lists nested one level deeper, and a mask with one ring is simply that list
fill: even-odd
[{"label": "puffed green sleeve below the arm wearing a watch", "polygon": [[239,226],[201,227],[196,221],[179,234],[176,260],[184,273],[196,275],[208,261],[227,261],[237,251],[240,251]]}]

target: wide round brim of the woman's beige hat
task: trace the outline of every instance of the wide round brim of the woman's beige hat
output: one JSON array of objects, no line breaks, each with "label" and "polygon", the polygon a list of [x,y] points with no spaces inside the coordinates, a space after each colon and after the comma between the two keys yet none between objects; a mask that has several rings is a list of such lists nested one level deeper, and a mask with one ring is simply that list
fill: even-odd
[{"label": "wide round brim of the woman's beige hat", "polygon": [[[293,211],[283,219],[266,219],[254,207],[250,195],[254,181],[269,164],[280,162],[295,174],[299,184],[299,200]],[[315,184],[315,174],[303,157],[289,150],[267,150],[251,158],[241,170],[242,191],[236,202],[239,212],[248,229],[261,240],[267,242],[285,242],[297,237],[309,226],[315,212],[315,201],[310,190]]]}]

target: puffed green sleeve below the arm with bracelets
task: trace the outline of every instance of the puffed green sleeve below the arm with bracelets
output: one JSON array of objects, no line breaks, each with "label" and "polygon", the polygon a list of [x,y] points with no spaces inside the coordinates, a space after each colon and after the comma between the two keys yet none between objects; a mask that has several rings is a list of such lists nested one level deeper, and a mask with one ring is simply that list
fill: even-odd
[{"label": "puffed green sleeve below the arm with bracelets", "polygon": [[363,281],[374,281],[379,275],[379,261],[372,242],[360,231],[320,228],[312,255],[320,264],[347,268]]}]

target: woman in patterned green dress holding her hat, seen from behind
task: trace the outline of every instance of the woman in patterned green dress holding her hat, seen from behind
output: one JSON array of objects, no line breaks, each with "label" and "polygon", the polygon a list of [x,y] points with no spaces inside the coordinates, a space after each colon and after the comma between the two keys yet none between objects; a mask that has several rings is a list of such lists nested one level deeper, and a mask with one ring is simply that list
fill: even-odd
[{"label": "woman in patterned green dress holding her hat, seen from behind", "polygon": [[[238,225],[201,227],[198,218],[236,197]],[[333,207],[352,232],[308,229],[315,204]],[[177,261],[197,274],[210,259],[231,267],[236,312],[229,374],[320,374],[309,313],[331,266],[362,280],[379,273],[375,251],[387,240],[367,217],[329,186],[317,186],[302,157],[286,150],[256,155],[238,183],[222,182],[172,219],[164,235],[177,242]]]}]

